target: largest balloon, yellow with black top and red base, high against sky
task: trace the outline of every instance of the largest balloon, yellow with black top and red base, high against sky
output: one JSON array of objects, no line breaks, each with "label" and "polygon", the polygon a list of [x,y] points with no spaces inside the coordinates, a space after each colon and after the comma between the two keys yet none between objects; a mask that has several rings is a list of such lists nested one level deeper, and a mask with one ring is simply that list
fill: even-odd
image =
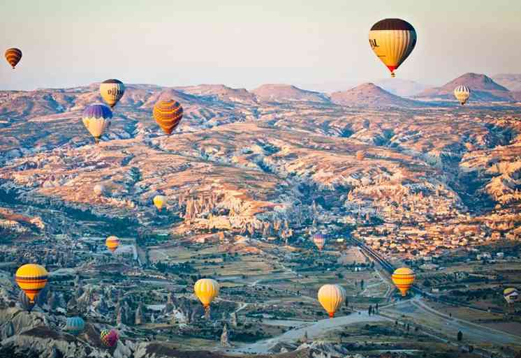
[{"label": "largest balloon, yellow with black top and red base, high against sky", "polygon": [[384,19],[376,22],[369,31],[369,45],[389,68],[391,77],[395,77],[395,70],[413,52],[416,31],[404,20]]}]

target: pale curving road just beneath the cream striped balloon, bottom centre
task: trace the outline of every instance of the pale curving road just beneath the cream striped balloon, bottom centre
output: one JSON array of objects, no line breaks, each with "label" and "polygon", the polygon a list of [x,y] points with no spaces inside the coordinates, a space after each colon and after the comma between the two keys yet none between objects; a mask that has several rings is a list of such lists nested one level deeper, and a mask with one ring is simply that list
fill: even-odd
[{"label": "pale curving road just beneath the cream striped balloon, bottom centre", "polygon": [[298,339],[302,338],[302,336],[304,336],[304,332],[306,331],[308,338],[316,338],[317,336],[323,335],[327,331],[332,331],[334,329],[338,329],[339,327],[352,325],[353,323],[377,322],[381,320],[386,320],[386,318],[380,317],[378,315],[369,316],[367,312],[362,312],[360,315],[355,312],[351,313],[351,315],[342,317],[332,319],[326,318],[325,320],[319,320],[309,324],[302,324],[300,327],[286,331],[284,334],[274,338],[258,341],[249,345],[243,345],[242,347],[237,347],[235,350],[233,350],[233,352],[266,354],[268,353],[268,350],[277,343],[297,341]]}]

